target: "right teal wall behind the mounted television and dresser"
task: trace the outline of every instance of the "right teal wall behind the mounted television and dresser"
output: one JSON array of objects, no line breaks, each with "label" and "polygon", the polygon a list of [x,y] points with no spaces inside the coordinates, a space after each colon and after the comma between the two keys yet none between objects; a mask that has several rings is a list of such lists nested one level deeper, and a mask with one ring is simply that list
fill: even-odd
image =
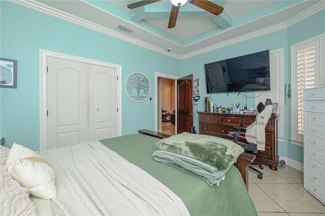
[{"label": "right teal wall behind the mounted television and dresser", "polygon": [[[207,94],[205,86],[205,72],[204,64],[215,62],[231,57],[241,56],[249,53],[254,53],[262,50],[276,50],[284,49],[284,84],[291,83],[291,65],[290,65],[290,53],[291,45],[298,42],[307,40],[325,32],[325,11],[321,11],[287,29],[279,30],[267,35],[263,35],[258,38],[247,40],[241,43],[230,45],[224,48],[213,50],[201,55],[197,55],[191,58],[187,58],[181,61],[181,73],[183,77],[188,74],[193,74],[193,79],[200,78],[200,95],[201,98],[209,96],[212,98],[217,106],[230,106],[229,103],[236,103],[243,101],[242,95],[238,93],[229,93],[227,97],[226,93]],[[283,88],[284,89],[284,88]],[[255,99],[253,98],[255,93],[247,93],[247,106],[254,107]],[[264,101],[263,101],[264,102]],[[284,104],[284,101],[277,101]],[[245,103],[245,99],[244,99]],[[198,101],[198,105],[194,106],[194,111],[204,110],[204,99]],[[198,115],[194,116],[194,126],[199,131]],[[287,157],[295,161],[303,163],[303,148],[290,143],[291,137],[291,106],[284,107],[284,141],[278,142],[278,154],[282,157]]]}]

